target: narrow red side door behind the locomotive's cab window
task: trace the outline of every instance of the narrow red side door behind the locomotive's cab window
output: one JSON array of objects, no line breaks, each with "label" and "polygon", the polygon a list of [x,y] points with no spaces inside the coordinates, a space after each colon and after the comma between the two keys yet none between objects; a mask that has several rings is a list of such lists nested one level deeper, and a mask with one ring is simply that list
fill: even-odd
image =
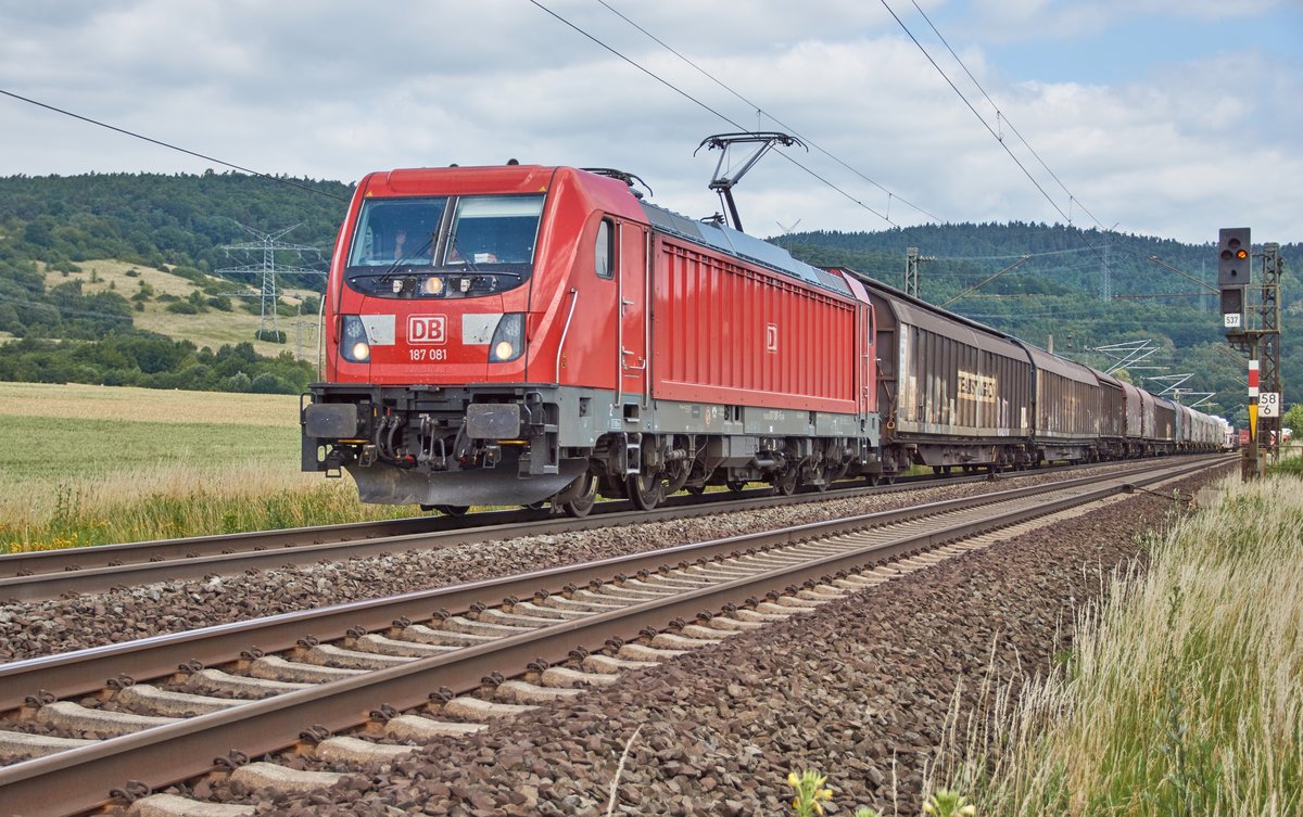
[{"label": "narrow red side door behind the locomotive's cab window", "polygon": [[619,297],[620,297],[620,349],[619,385],[616,389],[624,405],[624,419],[637,420],[641,411],[631,406],[646,407],[649,390],[648,356],[652,347],[652,276],[648,275],[650,234],[640,224],[620,221],[619,232]]}]

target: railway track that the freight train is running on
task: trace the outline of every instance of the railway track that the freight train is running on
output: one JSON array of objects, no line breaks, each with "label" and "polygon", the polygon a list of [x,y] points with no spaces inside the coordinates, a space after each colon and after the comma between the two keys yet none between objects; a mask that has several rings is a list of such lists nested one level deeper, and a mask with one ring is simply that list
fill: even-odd
[{"label": "railway track that the freight train is running on", "polygon": [[[1055,468],[1068,472],[1083,466]],[[1119,464],[1134,468],[1135,463]],[[1045,474],[1025,471],[1001,479]],[[848,484],[827,492],[773,496],[770,489],[671,497],[653,511],[631,510],[628,501],[599,502],[585,519],[551,516],[546,510],[516,509],[472,514],[465,518],[417,516],[386,522],[336,524],[285,531],[257,531],[222,536],[96,545],[38,553],[0,556],[0,598],[38,601],[69,593],[102,593],[115,587],[152,582],[197,580],[235,575],[246,570],[314,565],[382,553],[453,548],[463,544],[524,535],[563,533],[661,519],[744,511],[775,505],[804,503],[872,493],[898,492],[919,485],[985,481],[986,475],[902,477],[890,487]]]}]

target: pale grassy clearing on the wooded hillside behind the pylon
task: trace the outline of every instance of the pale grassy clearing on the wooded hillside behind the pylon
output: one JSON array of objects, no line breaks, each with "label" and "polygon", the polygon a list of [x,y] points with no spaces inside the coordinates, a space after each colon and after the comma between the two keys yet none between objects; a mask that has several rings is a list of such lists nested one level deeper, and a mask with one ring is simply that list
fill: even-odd
[{"label": "pale grassy clearing on the wooded hillside behind the pylon", "polygon": [[[72,272],[64,275],[63,272],[46,271],[46,286],[57,286],[66,281],[81,281],[82,291],[86,294],[104,291],[112,289],[119,295],[130,299],[141,291],[141,284],[147,284],[154,289],[154,298],[145,302],[143,312],[133,312],[133,323],[137,329],[147,329],[150,332],[158,332],[159,334],[165,334],[176,341],[192,341],[195,346],[207,346],[216,351],[223,345],[235,345],[242,342],[253,343],[254,350],[268,358],[275,358],[280,353],[289,350],[292,353],[298,353],[301,346],[301,356],[305,360],[317,359],[317,315],[305,316],[305,327],[300,332],[296,329],[294,317],[281,316],[278,325],[280,330],[285,333],[287,342],[268,343],[266,341],[257,340],[259,316],[257,314],[249,312],[240,302],[251,302],[257,306],[258,298],[232,298],[235,308],[229,312],[223,312],[220,310],[212,310],[210,312],[201,312],[198,315],[179,315],[176,312],[167,311],[167,303],[158,301],[158,295],[175,295],[176,298],[189,298],[190,293],[195,291],[198,288],[195,284],[188,278],[175,276],[162,269],[154,269],[151,267],[143,267],[141,264],[129,264],[126,261],[113,261],[113,260],[94,260],[82,261],[78,264],[81,272]],[[133,273],[134,275],[129,275]],[[93,280],[94,278],[94,280]],[[250,276],[245,281],[249,285],[249,291],[258,291],[262,281]],[[306,295],[311,294],[308,290],[285,289],[280,290],[280,299],[285,303],[298,303]],[[310,324],[306,325],[306,324]],[[296,342],[296,341],[301,341]]]}]

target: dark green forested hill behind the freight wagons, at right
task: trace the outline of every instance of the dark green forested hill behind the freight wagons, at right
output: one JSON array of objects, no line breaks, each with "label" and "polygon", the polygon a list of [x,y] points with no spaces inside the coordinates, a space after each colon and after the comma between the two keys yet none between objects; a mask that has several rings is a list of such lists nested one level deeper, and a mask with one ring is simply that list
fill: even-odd
[{"label": "dark green forested hill behind the freight wagons, at right", "polygon": [[[1161,392],[1181,375],[1186,402],[1247,424],[1246,359],[1225,341],[1217,294],[1216,230],[1207,245],[1044,224],[942,224],[881,233],[795,233],[774,238],[817,265],[844,265],[903,286],[906,252],[917,247],[919,291],[995,329],[1108,368],[1101,346],[1148,341],[1157,350],[1127,376]],[[1277,239],[1282,282],[1285,401],[1303,399],[1303,245]],[[1260,269],[1255,261],[1255,276]],[[1173,269],[1174,268],[1174,269]],[[1105,290],[1105,271],[1108,289]],[[1257,278],[1255,277],[1255,281]],[[1201,293],[1201,294],[1200,294]],[[1108,295],[1108,297],[1105,297]],[[1298,338],[1296,341],[1294,338]]]}]

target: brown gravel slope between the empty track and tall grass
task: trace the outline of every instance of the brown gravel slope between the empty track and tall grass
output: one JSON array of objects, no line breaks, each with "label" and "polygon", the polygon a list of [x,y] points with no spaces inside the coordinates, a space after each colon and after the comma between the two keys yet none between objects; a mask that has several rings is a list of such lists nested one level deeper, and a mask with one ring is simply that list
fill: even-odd
[{"label": "brown gravel slope between the empty track and tall grass", "polygon": [[830,774],[829,813],[856,804],[917,813],[956,680],[968,709],[990,675],[1044,671],[1066,645],[1074,605],[1096,597],[1101,575],[1136,557],[1136,533],[1173,510],[1170,498],[1130,497],[628,673],[575,705],[430,744],[326,792],[205,783],[193,794],[238,794],[259,814],[294,817],[605,814],[620,753],[641,727],[618,814],[787,813],[784,781],[800,768]]}]

